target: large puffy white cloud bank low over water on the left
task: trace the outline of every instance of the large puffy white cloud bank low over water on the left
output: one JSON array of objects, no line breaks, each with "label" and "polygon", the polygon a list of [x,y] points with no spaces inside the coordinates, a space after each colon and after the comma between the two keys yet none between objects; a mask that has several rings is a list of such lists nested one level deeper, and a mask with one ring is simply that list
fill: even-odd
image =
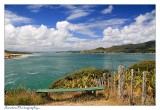
[{"label": "large puffy white cloud bank low over water on the left", "polygon": [[15,27],[5,25],[5,49],[20,51],[56,51],[69,45],[67,42],[82,42],[84,39],[73,37],[69,32],[73,30],[72,24],[67,21],[57,22],[56,29],[45,25],[35,27],[25,25]]}]

